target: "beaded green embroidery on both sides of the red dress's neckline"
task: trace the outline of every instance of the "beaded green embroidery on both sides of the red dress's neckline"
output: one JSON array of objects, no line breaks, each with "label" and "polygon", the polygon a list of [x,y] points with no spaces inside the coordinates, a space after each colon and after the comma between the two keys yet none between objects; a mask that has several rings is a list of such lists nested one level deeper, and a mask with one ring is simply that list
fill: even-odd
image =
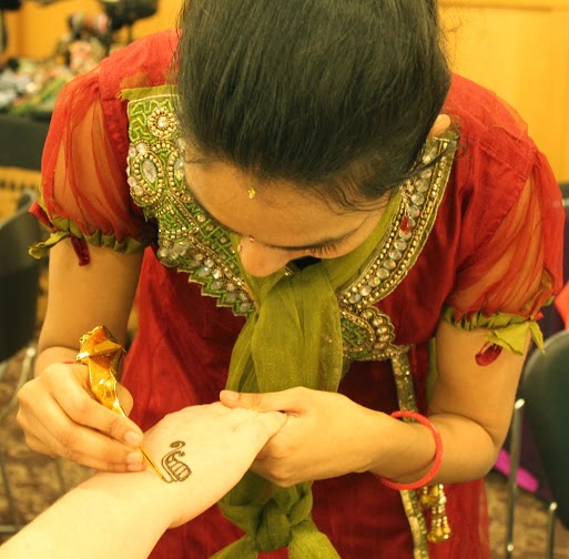
[{"label": "beaded green embroidery on both sides of the red dress's neckline", "polygon": [[[156,255],[189,274],[202,294],[235,315],[254,309],[240,276],[228,232],[195,203],[185,187],[183,142],[172,93],[129,102],[128,182],[133,201],[158,222]],[[347,360],[384,360],[407,348],[394,345],[389,317],[375,305],[392,293],[416,262],[436,217],[453,164],[453,134],[427,142],[423,162],[439,161],[402,186],[402,203],[389,231],[363,274],[338,293]]]}]

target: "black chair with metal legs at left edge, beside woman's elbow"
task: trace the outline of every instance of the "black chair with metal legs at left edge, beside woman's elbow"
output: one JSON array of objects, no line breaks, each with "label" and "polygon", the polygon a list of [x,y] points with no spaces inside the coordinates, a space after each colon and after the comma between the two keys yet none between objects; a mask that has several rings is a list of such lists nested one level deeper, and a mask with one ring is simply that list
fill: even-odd
[{"label": "black chair with metal legs at left edge, beside woman's elbow", "polygon": [[[33,191],[23,191],[16,213],[0,222],[0,382],[3,380],[7,364],[16,356],[22,358],[18,379],[11,387],[11,397],[0,409],[0,424],[14,411],[18,390],[31,377],[35,358],[41,263],[28,254],[30,245],[42,240],[38,221],[28,213],[35,199]],[[63,488],[59,463],[54,464]],[[0,475],[11,517],[10,524],[0,525],[0,533],[13,533],[22,527],[22,520],[13,498],[1,438]]]}]

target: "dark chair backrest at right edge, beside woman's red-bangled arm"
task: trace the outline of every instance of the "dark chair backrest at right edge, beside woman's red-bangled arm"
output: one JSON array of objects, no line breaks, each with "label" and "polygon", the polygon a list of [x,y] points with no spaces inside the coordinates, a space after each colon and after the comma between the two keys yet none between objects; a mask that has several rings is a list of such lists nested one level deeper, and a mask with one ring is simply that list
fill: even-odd
[{"label": "dark chair backrest at right edge, beside woman's red-bangled arm", "polygon": [[520,388],[559,519],[569,528],[569,331],[548,338],[545,349],[527,360]]}]

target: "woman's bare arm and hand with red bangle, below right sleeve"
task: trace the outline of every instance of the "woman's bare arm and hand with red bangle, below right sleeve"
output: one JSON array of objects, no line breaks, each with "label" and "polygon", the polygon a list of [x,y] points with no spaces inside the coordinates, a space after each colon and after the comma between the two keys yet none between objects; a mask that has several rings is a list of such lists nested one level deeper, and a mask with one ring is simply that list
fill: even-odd
[{"label": "woman's bare arm and hand with red bangle, below right sleeve", "polygon": [[[486,332],[464,332],[443,322],[437,332],[438,376],[429,420],[444,448],[435,484],[479,479],[496,461],[506,436],[522,355],[501,352],[490,365],[475,356]],[[286,425],[257,456],[252,469],[289,486],[352,471],[394,481],[420,479],[433,466],[435,441],[425,426],[400,421],[333,393],[292,388],[268,394],[223,392],[232,408],[282,410]]]}]

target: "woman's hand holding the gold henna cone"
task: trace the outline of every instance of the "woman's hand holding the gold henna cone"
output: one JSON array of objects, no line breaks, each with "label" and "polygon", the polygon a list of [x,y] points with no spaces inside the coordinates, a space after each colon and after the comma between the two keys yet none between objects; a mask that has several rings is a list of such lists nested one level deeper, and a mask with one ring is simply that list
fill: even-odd
[{"label": "woman's hand holding the gold henna cone", "polygon": [[[118,388],[124,411],[132,397]],[[88,388],[88,368],[52,364],[18,394],[18,423],[32,450],[106,471],[140,471],[141,429],[99,404]]]}]

